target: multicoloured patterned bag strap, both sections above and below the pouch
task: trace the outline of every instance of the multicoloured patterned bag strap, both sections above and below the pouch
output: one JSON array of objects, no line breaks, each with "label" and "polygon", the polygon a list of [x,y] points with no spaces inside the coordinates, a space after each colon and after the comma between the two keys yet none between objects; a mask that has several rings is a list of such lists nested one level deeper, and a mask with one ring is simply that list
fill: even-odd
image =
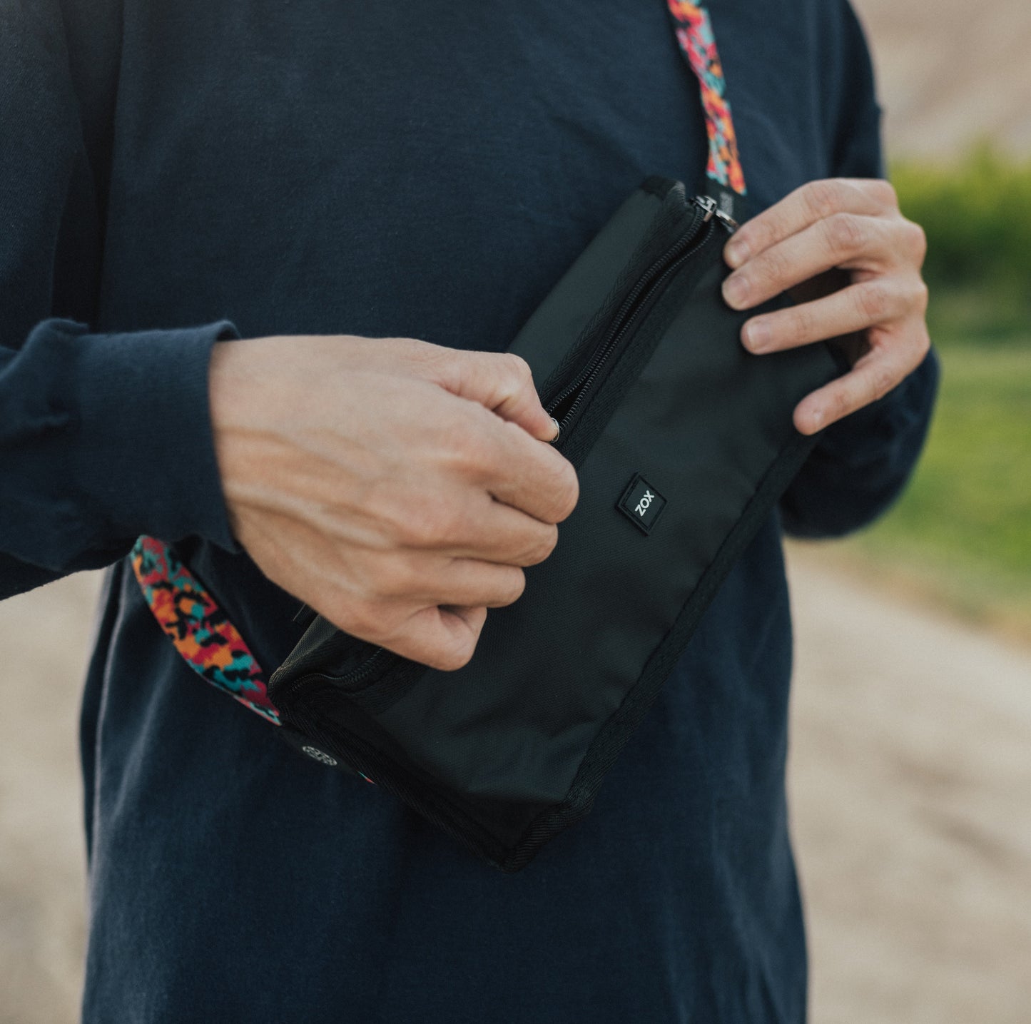
[{"label": "multicoloured patterned bag strap, both sections above and below the pouch", "polygon": [[[744,195],[744,174],[708,11],[687,0],[667,0],[667,5],[680,49],[701,86],[709,144],[705,172],[720,186]],[[143,599],[186,663],[201,679],[280,725],[258,659],[171,548],[154,537],[140,537],[130,557]]]}]

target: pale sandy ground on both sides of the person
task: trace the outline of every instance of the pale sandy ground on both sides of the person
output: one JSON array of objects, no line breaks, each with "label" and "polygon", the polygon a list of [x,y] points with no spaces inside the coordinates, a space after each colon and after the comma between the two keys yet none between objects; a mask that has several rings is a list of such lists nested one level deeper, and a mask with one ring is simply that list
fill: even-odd
[{"label": "pale sandy ground on both sides of the person", "polygon": [[[1031,655],[792,552],[814,1024],[1031,1020]],[[76,1019],[97,577],[0,604],[0,1024]],[[651,1024],[651,1022],[650,1022]]]}]

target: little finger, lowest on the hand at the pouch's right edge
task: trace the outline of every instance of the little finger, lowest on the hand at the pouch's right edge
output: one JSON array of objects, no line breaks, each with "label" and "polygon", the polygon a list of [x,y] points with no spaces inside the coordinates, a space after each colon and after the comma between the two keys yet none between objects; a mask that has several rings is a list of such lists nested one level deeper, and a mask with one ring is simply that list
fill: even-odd
[{"label": "little finger, lowest on the hand at the pouch's right edge", "polygon": [[891,337],[891,331],[871,331],[872,348],[843,376],[806,395],[795,406],[795,428],[803,434],[818,430],[883,398],[922,362],[930,346],[926,329]]}]

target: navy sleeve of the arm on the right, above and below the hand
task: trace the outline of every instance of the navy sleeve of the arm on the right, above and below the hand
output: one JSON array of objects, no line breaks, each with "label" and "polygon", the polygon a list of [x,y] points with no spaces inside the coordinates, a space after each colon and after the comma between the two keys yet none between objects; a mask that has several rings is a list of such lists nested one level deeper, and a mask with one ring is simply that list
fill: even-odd
[{"label": "navy sleeve of the arm on the right, above and below the hand", "polygon": [[[831,174],[884,177],[880,107],[862,28],[845,0],[829,32],[824,75],[830,95]],[[940,368],[932,350],[878,401],[831,424],[780,499],[787,533],[841,536],[873,522],[902,493],[927,436]]]}]

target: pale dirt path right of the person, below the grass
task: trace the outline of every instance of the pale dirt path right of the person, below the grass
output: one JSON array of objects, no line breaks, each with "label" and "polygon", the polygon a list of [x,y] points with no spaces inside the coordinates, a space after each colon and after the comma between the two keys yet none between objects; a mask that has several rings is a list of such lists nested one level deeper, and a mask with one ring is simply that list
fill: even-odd
[{"label": "pale dirt path right of the person, below the grass", "polygon": [[1027,1024],[1031,655],[817,552],[791,572],[813,1021]]}]

